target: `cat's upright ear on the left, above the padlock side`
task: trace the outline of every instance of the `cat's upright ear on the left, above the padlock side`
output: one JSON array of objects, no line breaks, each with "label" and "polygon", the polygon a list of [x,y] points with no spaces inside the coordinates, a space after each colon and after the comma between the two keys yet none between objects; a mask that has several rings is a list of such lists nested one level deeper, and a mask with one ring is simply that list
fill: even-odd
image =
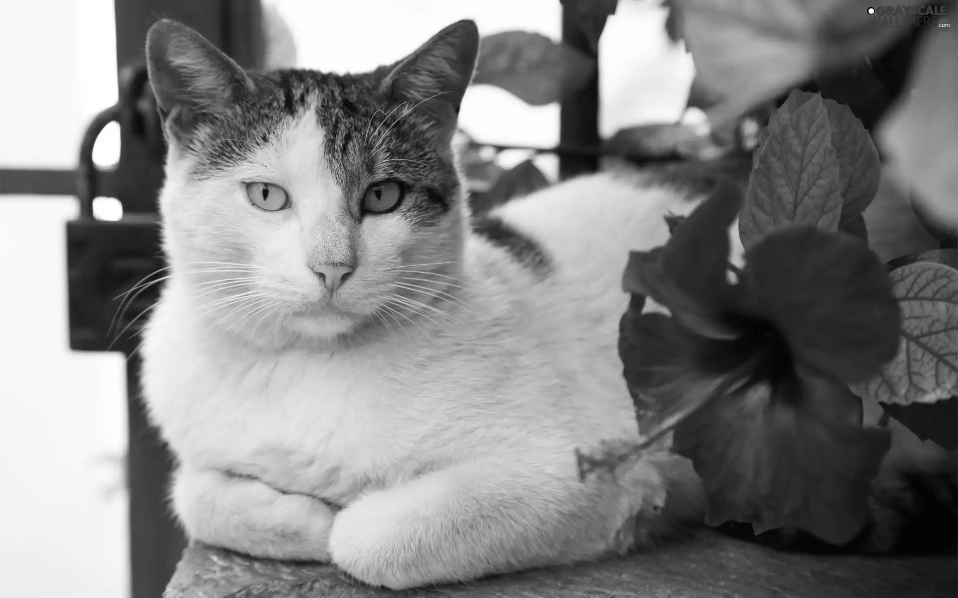
[{"label": "cat's upright ear on the left, above the padlock side", "polygon": [[230,111],[253,81],[232,58],[171,19],[147,33],[147,70],[164,122],[189,133],[195,118]]}]

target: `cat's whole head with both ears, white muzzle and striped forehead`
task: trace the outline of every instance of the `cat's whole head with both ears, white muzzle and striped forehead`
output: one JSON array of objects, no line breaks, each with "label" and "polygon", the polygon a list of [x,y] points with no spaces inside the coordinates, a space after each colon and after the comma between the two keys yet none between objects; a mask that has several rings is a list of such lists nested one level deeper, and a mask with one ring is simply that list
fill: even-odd
[{"label": "cat's whole head with both ears, white muzzle and striped forehead", "polygon": [[154,25],[164,243],[196,309],[279,343],[427,313],[468,222],[450,144],[477,49],[464,21],[370,74],[249,75],[182,25]]}]

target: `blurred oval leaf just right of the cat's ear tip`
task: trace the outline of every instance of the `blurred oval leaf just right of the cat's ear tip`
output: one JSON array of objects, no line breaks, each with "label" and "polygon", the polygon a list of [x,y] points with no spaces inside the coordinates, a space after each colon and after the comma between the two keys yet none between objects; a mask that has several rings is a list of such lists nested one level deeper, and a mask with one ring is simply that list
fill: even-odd
[{"label": "blurred oval leaf just right of the cat's ear tip", "polygon": [[483,37],[474,84],[495,85],[533,106],[561,101],[595,76],[594,58],[540,33]]}]

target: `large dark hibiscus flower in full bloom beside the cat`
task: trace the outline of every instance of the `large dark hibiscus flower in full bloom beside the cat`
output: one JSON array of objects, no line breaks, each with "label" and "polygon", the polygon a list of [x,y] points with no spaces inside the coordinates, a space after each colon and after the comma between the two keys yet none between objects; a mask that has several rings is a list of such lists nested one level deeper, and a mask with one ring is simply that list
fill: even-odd
[{"label": "large dark hibiscus flower in full bloom beside the cat", "polygon": [[[847,543],[865,524],[889,432],[862,426],[848,385],[876,375],[899,344],[901,311],[878,256],[846,233],[787,225],[728,263],[741,209],[728,181],[633,252],[619,352],[649,434],[673,432],[709,502],[709,524],[805,530]],[[646,298],[670,316],[643,313]]]}]

